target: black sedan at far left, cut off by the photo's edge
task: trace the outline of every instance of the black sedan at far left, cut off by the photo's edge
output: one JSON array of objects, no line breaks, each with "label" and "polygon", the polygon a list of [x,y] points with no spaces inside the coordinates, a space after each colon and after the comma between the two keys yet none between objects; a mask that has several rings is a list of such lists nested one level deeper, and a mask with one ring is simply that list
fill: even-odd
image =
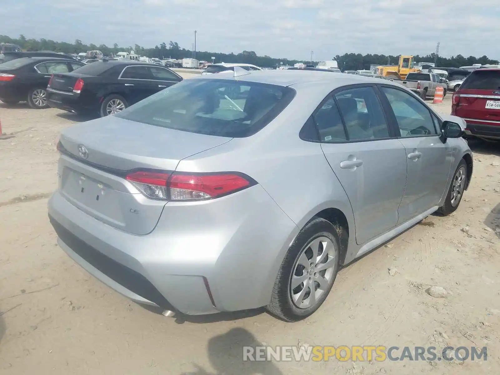
[{"label": "black sedan at far left, cut off by the photo's edge", "polygon": [[67,58],[22,57],[0,64],[0,100],[6,104],[27,101],[35,109],[47,107],[46,88],[54,73],[83,66]]}]

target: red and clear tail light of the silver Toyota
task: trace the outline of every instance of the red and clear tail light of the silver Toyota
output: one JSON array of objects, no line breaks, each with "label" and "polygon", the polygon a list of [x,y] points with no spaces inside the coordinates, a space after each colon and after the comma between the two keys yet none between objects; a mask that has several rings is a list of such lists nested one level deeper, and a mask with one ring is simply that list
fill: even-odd
[{"label": "red and clear tail light of the silver Toyota", "polygon": [[159,200],[205,200],[245,189],[256,184],[236,172],[184,173],[140,170],[125,177],[142,194]]}]

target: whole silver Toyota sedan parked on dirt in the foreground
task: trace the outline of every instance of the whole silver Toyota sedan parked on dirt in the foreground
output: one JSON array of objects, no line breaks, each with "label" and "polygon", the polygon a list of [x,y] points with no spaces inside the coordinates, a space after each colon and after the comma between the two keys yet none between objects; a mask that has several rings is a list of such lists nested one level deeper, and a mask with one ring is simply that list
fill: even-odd
[{"label": "whole silver Toyota sedan parked on dirt in the foreground", "polygon": [[71,258],[165,315],[295,321],[339,267],[457,208],[463,128],[389,81],[236,68],[63,130],[48,214]]}]

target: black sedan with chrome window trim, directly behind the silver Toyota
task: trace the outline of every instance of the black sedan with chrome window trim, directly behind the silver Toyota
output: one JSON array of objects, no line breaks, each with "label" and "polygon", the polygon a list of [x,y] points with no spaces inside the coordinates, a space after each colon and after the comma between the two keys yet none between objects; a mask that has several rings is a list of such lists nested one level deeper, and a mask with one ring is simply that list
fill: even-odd
[{"label": "black sedan with chrome window trim, directly behind the silver Toyota", "polygon": [[47,103],[104,117],[181,80],[172,70],[146,62],[96,61],[72,73],[54,74],[47,87]]}]

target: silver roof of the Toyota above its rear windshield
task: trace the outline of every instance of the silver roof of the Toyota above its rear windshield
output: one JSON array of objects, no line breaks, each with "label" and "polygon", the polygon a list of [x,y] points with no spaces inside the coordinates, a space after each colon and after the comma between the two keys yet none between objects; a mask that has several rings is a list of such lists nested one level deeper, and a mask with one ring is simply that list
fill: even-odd
[{"label": "silver roof of the Toyota above its rear windshield", "polygon": [[[207,74],[202,75],[199,79],[237,79],[248,82],[269,83],[280,86],[298,87],[300,85],[307,85],[314,83],[316,87],[324,86],[330,91],[336,87],[345,86],[349,84],[362,84],[362,83],[378,83],[380,79],[372,78],[362,75],[335,73],[331,71],[319,70],[295,70],[295,69],[282,69],[282,70],[255,70],[245,71],[246,74],[234,77],[233,74]],[[193,78],[198,79],[198,78]],[[391,84],[401,87],[400,85],[384,81],[383,84]]]}]

